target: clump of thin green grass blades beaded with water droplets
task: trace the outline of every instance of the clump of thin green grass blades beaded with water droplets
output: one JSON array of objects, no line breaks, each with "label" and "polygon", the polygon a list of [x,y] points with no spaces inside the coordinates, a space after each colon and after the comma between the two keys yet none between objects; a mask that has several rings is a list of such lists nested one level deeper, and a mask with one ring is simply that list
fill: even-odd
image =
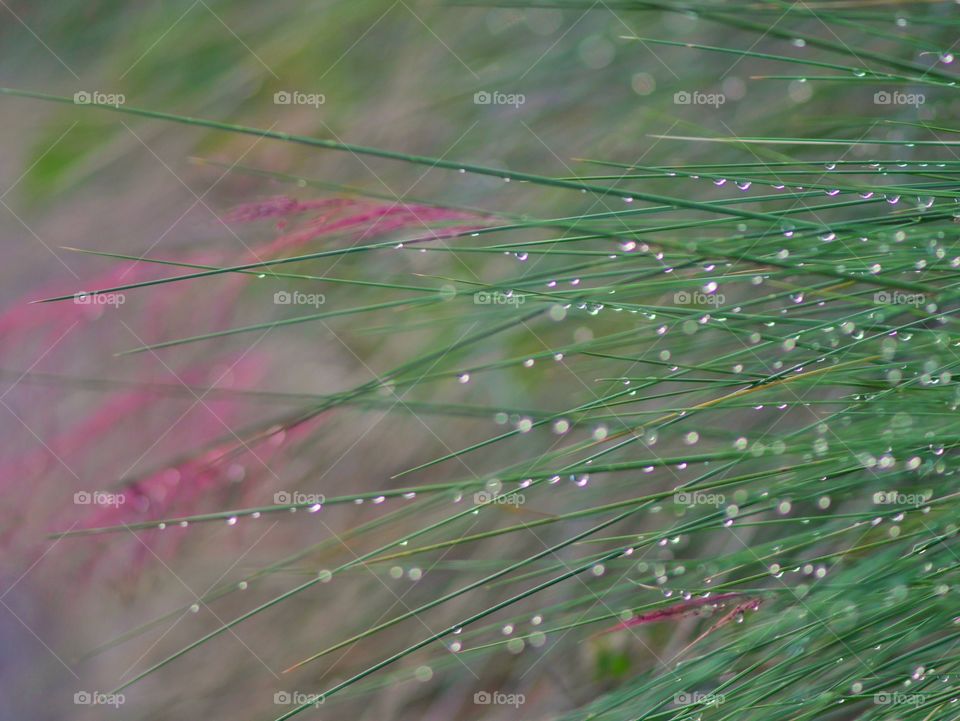
[{"label": "clump of thin green grass blades beaded with water droplets", "polygon": [[[699,62],[732,54],[744,64],[826,73],[770,73],[765,81],[834,82],[865,97],[878,83],[908,84],[929,93],[933,110],[949,107],[955,91],[939,27],[956,21],[927,3],[611,7],[694,13],[755,33],[756,43],[792,40],[793,50],[639,36],[632,44],[676,46]],[[898,19],[918,34],[898,33]],[[384,354],[391,363],[376,369],[367,360],[377,352],[355,354],[368,379],[296,396],[293,411],[258,417],[234,450],[300,431],[293,455],[309,457],[310,439],[325,428],[312,421],[385,407],[419,420],[436,441],[431,455],[398,464],[391,477],[360,477],[355,491],[322,501],[291,497],[59,533],[282,523],[291,511],[317,514],[327,532],[215,583],[200,602],[234,598],[238,584],[289,581],[152,655],[118,691],[189,668],[221,637],[260,619],[282,626],[282,609],[359,575],[381,582],[373,588],[398,606],[271,650],[325,708],[411,679],[468,685],[483,663],[509,664],[500,690],[533,699],[550,685],[544,667],[569,662],[601,682],[562,707],[545,703],[544,713],[952,717],[960,141],[947,120],[852,114],[810,119],[800,128],[806,135],[666,132],[658,142],[695,147],[695,158],[571,160],[577,170],[545,174],[133,106],[100,110],[442,170],[464,182],[509,181],[524,203],[519,212],[506,202],[507,210],[443,198],[414,204],[241,167],[233,171],[314,185],[329,197],[274,199],[235,218],[353,212],[354,203],[366,215],[346,224],[321,216],[294,231],[297,242],[283,235],[262,257],[232,264],[86,251],[182,271],[94,294],[175,293],[217,279],[239,279],[261,299],[294,282],[314,292],[351,289],[335,307],[241,318],[122,349],[141,357],[266,332],[322,329],[352,341],[420,339],[426,330],[427,343],[405,346],[396,362]],[[390,237],[371,237],[368,225],[393,215],[402,222],[380,228]],[[341,260],[343,272],[333,275]],[[331,266],[314,272],[321,263]],[[371,326],[357,325],[364,321]],[[539,391],[534,407],[521,400],[528,388]],[[434,430],[427,417],[456,433]],[[309,473],[302,481],[323,492]],[[345,540],[329,524],[353,506],[373,512]],[[405,575],[427,581],[409,603],[390,586]],[[139,639],[190,605],[97,652]],[[484,679],[492,675],[485,671]],[[317,697],[278,718],[313,711]]]}]

